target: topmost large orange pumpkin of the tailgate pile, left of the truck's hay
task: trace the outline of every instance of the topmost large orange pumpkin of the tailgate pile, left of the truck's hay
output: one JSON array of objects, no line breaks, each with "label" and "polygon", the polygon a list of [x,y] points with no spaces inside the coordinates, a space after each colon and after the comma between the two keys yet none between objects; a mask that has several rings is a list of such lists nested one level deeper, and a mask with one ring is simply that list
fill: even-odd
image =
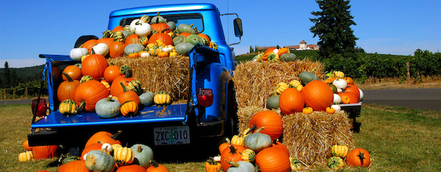
[{"label": "topmost large orange pumpkin of the tailgate pile, left of the truck's hay", "polygon": [[84,58],[81,62],[81,73],[83,76],[89,75],[98,80],[103,78],[105,68],[108,67],[107,59],[100,54],[92,54]]}]

